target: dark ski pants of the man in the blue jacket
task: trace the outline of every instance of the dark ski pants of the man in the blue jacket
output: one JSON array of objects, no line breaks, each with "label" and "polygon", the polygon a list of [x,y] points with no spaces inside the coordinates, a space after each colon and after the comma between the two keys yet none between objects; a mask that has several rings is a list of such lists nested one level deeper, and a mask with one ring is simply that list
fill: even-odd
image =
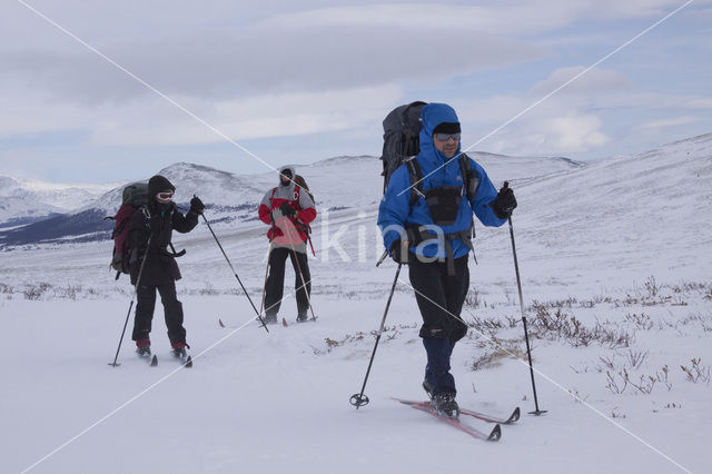
[{"label": "dark ski pants of the man in the blue jacket", "polygon": [[455,378],[449,373],[449,358],[455,344],[467,334],[459,314],[469,287],[467,256],[456,258],[455,275],[447,275],[446,263],[408,263],[411,285],[423,316],[421,337],[427,353],[425,381],[433,395],[455,394]]}]

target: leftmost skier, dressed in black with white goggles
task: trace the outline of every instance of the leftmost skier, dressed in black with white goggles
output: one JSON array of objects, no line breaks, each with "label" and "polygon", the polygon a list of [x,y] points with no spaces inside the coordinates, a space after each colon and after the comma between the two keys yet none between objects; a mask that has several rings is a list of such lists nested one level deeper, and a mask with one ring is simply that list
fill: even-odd
[{"label": "leftmost skier, dressed in black with white goggles", "polygon": [[[182,305],[176,297],[176,280],[180,270],[176,263],[170,239],[172,230],[189,233],[198,225],[198,216],[205,206],[199,198],[190,200],[190,210],[184,216],[172,201],[176,187],[160,175],[148,181],[148,206],[137,209],[131,216],[129,227],[129,248],[131,284],[137,288],[136,318],[134,320],[134,340],[139,355],[150,354],[151,320],[156,307],[156,290],[160,294],[166,316],[166,327],[174,355],[186,356],[186,329],[182,327]],[[150,240],[149,240],[150,237]],[[147,248],[148,245],[148,248]],[[140,275],[141,261],[146,264]]]}]

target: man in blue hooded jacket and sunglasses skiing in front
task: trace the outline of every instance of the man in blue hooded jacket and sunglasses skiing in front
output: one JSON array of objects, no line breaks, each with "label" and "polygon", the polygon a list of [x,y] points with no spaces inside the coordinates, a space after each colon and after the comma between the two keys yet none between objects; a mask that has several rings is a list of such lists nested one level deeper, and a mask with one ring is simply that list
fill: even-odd
[{"label": "man in blue hooded jacket and sunglasses skiing in front", "polygon": [[474,196],[467,196],[458,158],[461,126],[452,107],[429,103],[421,119],[421,151],[415,159],[424,176],[423,196],[411,205],[412,182],[402,165],[388,181],[378,226],[389,255],[409,266],[423,317],[419,335],[427,353],[423,388],[436,411],[456,417],[459,408],[449,359],[455,344],[467,333],[459,315],[469,286],[473,213],[485,226],[501,226],[516,199],[511,188],[497,192],[485,170],[469,158],[471,179],[478,186]]}]

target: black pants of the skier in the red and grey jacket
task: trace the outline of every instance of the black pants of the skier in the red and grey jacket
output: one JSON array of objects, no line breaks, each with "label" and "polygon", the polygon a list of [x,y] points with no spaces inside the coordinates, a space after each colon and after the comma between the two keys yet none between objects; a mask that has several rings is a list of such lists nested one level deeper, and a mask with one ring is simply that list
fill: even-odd
[{"label": "black pants of the skier in the red and grey jacket", "polygon": [[[295,254],[297,259],[295,260]],[[307,254],[294,251],[285,247],[275,247],[269,253],[269,276],[265,287],[265,313],[267,316],[277,316],[285,287],[285,263],[287,256],[291,259],[291,266],[295,273],[294,287],[297,292],[297,314],[306,315],[309,309],[309,295],[312,294],[312,275],[309,274],[309,264]],[[299,265],[297,265],[297,261]],[[299,275],[301,269],[301,275]],[[301,283],[301,276],[306,283],[306,288]]]}]

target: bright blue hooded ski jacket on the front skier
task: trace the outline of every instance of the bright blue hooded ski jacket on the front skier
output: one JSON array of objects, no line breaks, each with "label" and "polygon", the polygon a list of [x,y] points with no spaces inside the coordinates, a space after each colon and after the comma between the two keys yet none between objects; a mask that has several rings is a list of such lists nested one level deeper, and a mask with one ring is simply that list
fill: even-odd
[{"label": "bright blue hooded ski jacket on the front skier", "polygon": [[[421,152],[415,159],[418,160],[423,170],[422,190],[443,186],[463,186],[463,177],[459,167],[459,159],[447,158],[439,152],[433,144],[433,130],[443,122],[459,122],[455,110],[446,103],[428,103],[423,107],[421,112],[423,129],[421,130]],[[459,145],[457,147],[456,157],[459,155]],[[446,164],[447,162],[447,164]],[[446,165],[445,165],[446,164]],[[444,165],[444,166],[443,166]],[[442,231],[447,234],[456,234],[465,231],[472,224],[473,211],[482,224],[490,227],[498,227],[506,223],[506,219],[498,218],[490,203],[497,196],[497,190],[487,177],[484,168],[475,160],[469,158],[469,167],[476,171],[479,178],[479,187],[475,198],[468,200],[466,194],[459,204],[457,218],[452,226],[442,226]],[[427,204],[422,196],[411,206],[411,177],[405,165],[402,165],[390,177],[386,192],[378,208],[378,227],[383,233],[384,246],[389,249],[395,240],[400,238],[396,228],[406,228],[409,226],[434,226]],[[432,233],[435,234],[435,233]],[[469,247],[459,239],[452,240],[453,256],[455,258],[467,255]],[[421,245],[411,246],[409,250],[424,257],[435,257],[443,259],[446,257],[445,249],[442,245]]]}]

